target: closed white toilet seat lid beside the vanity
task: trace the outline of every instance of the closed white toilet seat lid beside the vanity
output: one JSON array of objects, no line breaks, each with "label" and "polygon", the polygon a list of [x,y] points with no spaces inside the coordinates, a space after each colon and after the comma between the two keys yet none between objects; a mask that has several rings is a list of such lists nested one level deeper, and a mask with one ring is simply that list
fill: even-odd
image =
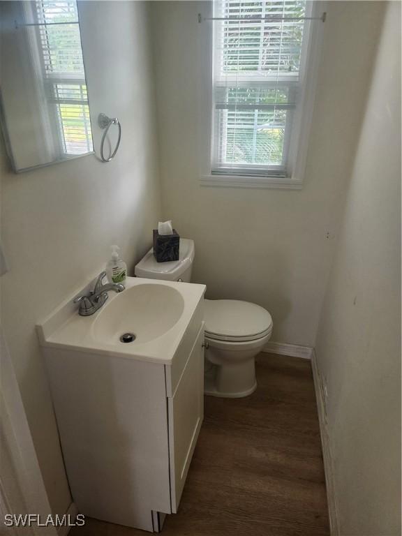
[{"label": "closed white toilet seat lid beside the vanity", "polygon": [[205,299],[205,336],[215,341],[257,341],[271,334],[272,318],[265,308],[236,299]]}]

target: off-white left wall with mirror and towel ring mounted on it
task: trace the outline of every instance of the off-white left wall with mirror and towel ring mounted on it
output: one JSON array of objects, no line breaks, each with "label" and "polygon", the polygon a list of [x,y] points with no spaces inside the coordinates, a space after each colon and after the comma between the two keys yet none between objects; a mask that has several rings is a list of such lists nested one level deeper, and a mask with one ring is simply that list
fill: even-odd
[{"label": "off-white left wall with mirror and towel ring mounted on it", "polygon": [[[1,277],[1,324],[54,512],[69,503],[59,438],[34,326],[108,260],[119,244],[129,270],[151,245],[160,216],[148,9],[144,2],[80,7],[91,119],[121,119],[112,163],[94,156],[24,174],[1,144],[1,232],[10,271]],[[107,31],[105,31],[107,29]]]}]

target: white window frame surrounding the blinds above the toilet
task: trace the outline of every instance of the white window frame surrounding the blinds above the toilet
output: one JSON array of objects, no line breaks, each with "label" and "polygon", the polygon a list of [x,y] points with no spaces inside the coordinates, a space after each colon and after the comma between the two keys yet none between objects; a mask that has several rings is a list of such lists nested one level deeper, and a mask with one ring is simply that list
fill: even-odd
[{"label": "white window frame surrounding the blinds above the toilet", "polygon": [[[307,1],[306,13],[309,17],[320,17],[325,12],[324,1]],[[207,8],[201,14],[201,20],[213,17],[213,2],[209,1]],[[299,105],[292,114],[292,127],[286,135],[289,139],[288,167],[286,172],[278,174],[266,172],[257,174],[243,174],[235,172],[213,171],[213,132],[214,126],[214,51],[213,34],[214,22],[204,21],[199,24],[199,51],[198,63],[200,64],[200,80],[198,81],[198,124],[200,145],[200,176],[202,186],[237,186],[241,188],[290,188],[300,189],[303,186],[306,168],[306,156],[308,140],[311,130],[315,87],[320,58],[320,41],[324,24],[320,20],[306,21],[306,36],[303,43],[301,60],[303,64],[304,78],[301,81],[301,96]],[[207,90],[205,91],[207,86]],[[202,90],[200,89],[202,88]],[[206,114],[205,110],[209,110]],[[301,135],[303,133],[303,135]],[[239,166],[240,168],[240,166]],[[248,166],[245,167],[248,169]],[[278,170],[280,171],[280,170]]]}]

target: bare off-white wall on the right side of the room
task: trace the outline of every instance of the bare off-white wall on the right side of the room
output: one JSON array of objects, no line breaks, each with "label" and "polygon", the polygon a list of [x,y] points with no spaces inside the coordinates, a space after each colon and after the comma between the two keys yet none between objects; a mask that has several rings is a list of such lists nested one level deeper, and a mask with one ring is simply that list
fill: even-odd
[{"label": "bare off-white wall on the right side of the room", "polygon": [[387,7],[316,346],[339,534],[401,534],[401,4]]}]

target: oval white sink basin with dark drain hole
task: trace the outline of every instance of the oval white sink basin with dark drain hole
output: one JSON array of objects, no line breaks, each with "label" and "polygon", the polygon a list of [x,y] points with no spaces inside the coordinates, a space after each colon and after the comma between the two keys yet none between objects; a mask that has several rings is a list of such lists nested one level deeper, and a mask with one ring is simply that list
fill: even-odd
[{"label": "oval white sink basin with dark drain hole", "polygon": [[[152,341],[177,324],[184,311],[184,299],[168,285],[144,284],[126,288],[101,309],[94,324],[94,340],[117,345],[135,345]],[[124,343],[120,337],[134,334]]]}]

